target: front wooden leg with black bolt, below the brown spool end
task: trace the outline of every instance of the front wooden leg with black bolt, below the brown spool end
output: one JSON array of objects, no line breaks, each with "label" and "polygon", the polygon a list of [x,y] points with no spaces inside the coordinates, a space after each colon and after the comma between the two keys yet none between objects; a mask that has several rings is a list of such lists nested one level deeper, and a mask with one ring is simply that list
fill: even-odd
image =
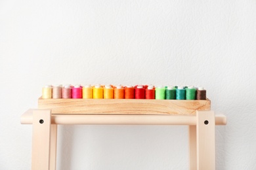
[{"label": "front wooden leg with black bolt, below the brown spool end", "polygon": [[197,168],[215,169],[215,112],[196,112]]}]

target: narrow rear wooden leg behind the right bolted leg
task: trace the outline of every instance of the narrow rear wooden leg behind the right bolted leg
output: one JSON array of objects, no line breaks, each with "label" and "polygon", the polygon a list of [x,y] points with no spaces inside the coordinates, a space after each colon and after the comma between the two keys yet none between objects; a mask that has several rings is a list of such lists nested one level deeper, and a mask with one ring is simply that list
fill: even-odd
[{"label": "narrow rear wooden leg behind the right bolted leg", "polygon": [[196,170],[196,126],[188,126],[190,170]]}]

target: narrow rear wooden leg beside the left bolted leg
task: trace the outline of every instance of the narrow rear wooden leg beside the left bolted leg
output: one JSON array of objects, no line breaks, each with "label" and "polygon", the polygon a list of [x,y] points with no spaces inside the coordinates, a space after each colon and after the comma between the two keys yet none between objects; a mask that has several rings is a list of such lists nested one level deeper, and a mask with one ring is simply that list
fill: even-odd
[{"label": "narrow rear wooden leg beside the left bolted leg", "polygon": [[57,125],[51,125],[50,170],[56,169]]}]

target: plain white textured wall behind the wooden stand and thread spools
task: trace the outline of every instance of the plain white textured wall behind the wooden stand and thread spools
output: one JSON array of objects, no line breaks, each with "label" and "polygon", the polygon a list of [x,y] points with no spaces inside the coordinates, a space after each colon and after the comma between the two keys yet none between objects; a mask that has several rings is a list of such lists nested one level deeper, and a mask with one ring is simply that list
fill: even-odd
[{"label": "plain white textured wall behind the wooden stand and thread spools", "polygon": [[[256,169],[256,2],[0,1],[0,169],[30,169],[45,84],[207,89],[217,169]],[[179,126],[59,126],[57,169],[188,169]]]}]

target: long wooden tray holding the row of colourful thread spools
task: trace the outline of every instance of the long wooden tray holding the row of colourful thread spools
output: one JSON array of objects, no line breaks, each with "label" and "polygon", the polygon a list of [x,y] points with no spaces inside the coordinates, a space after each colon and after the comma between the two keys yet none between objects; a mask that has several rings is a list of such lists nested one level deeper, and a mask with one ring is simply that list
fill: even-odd
[{"label": "long wooden tray holding the row of colourful thread spools", "polygon": [[211,101],[40,97],[38,109],[51,109],[52,114],[196,114],[196,110],[211,110]]}]

